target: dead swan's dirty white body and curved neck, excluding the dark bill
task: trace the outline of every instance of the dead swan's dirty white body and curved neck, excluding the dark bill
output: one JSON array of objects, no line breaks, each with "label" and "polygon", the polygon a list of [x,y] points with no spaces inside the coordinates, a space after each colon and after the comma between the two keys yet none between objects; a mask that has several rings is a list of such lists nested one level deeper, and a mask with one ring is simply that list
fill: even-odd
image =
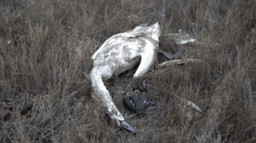
[{"label": "dead swan's dirty white body and curved neck, excluding the dark bill", "polygon": [[[108,89],[104,86],[102,78],[109,79],[113,73],[125,72],[138,64],[140,59],[140,66],[133,77],[136,79],[145,75],[156,59],[160,35],[158,22],[148,27],[143,24],[132,31],[112,36],[93,54],[93,69],[90,73],[92,87],[95,94],[108,108],[111,119],[124,121],[124,117],[116,109]],[[121,124],[118,125],[121,126]]]}]

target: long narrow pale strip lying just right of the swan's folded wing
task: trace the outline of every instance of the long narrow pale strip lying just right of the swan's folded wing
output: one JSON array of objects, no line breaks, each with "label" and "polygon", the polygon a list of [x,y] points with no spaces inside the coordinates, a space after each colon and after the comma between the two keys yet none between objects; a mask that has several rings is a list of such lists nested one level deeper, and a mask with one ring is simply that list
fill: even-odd
[{"label": "long narrow pale strip lying just right of the swan's folded wing", "polygon": [[161,68],[163,66],[170,66],[173,64],[186,64],[186,63],[202,63],[200,59],[173,59],[172,61],[166,61],[164,63],[158,64]]}]

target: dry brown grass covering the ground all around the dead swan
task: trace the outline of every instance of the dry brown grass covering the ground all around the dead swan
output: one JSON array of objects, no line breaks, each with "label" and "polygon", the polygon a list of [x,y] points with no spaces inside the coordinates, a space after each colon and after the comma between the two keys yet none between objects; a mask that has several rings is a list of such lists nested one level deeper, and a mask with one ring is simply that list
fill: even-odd
[{"label": "dry brown grass covering the ground all around the dead swan", "polygon": [[[182,58],[205,63],[154,66],[145,79],[158,105],[127,119],[139,130],[129,135],[107,123],[90,57],[111,35],[156,21],[161,49],[175,51],[168,34],[184,29],[201,44]],[[0,142],[255,142],[255,24],[254,0],[1,1]],[[132,72],[106,82],[125,117]],[[173,93],[204,115],[182,112]]]}]

